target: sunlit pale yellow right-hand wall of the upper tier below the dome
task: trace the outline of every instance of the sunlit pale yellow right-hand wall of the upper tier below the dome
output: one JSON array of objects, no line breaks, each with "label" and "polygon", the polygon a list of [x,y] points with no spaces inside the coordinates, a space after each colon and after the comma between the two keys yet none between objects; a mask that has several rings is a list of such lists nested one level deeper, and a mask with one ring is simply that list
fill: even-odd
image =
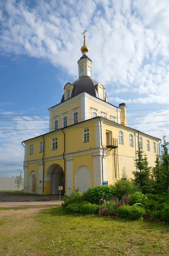
[{"label": "sunlit pale yellow right-hand wall of the upper tier below the dome", "polygon": [[117,122],[117,111],[112,110],[112,108],[108,108],[104,105],[101,105],[100,103],[97,103],[91,99],[88,99],[88,116],[89,119],[92,118],[92,109],[91,108],[95,108],[97,109],[97,116],[102,116],[102,112],[107,113],[107,119],[111,120],[110,116],[115,116],[116,118],[116,122]]}]

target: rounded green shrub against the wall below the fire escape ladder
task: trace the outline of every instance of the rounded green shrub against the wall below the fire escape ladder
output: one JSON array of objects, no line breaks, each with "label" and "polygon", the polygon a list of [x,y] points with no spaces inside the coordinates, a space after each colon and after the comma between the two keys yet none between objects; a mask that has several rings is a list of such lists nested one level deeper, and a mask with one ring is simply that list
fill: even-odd
[{"label": "rounded green shrub against the wall below the fire escape ladder", "polygon": [[130,180],[118,180],[112,187],[115,189],[118,198],[140,191],[139,187],[135,186]]}]

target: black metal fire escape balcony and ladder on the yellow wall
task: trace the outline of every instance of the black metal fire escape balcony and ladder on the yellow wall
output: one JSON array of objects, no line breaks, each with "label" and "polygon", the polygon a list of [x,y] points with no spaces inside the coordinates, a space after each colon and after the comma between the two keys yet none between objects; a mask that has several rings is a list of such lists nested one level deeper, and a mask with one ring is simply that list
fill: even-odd
[{"label": "black metal fire escape balcony and ladder on the yellow wall", "polygon": [[113,180],[119,180],[119,163],[118,163],[118,141],[115,138],[111,138],[111,145],[106,145],[107,154],[111,153],[113,157]]}]

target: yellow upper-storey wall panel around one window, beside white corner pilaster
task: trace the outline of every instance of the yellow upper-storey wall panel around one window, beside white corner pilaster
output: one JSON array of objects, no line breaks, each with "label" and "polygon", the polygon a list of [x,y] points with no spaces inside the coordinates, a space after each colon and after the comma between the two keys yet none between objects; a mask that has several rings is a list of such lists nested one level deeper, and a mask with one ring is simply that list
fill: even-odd
[{"label": "yellow upper-storey wall panel around one window, beside white corner pilaster", "polygon": [[[89,142],[83,142],[83,130],[89,128]],[[66,133],[66,154],[95,148],[95,122],[84,124]]]}]

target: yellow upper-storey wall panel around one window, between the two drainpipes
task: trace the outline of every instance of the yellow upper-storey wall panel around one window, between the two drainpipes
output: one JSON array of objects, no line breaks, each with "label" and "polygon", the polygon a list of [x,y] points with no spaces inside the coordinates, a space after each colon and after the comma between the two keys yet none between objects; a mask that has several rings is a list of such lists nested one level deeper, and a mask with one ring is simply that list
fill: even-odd
[{"label": "yellow upper-storey wall panel around one window, between the two drainpipes", "polygon": [[[63,154],[64,134],[62,131],[52,132],[51,136],[45,137],[45,158],[55,157]],[[57,149],[52,149],[52,139],[57,138]]]}]

